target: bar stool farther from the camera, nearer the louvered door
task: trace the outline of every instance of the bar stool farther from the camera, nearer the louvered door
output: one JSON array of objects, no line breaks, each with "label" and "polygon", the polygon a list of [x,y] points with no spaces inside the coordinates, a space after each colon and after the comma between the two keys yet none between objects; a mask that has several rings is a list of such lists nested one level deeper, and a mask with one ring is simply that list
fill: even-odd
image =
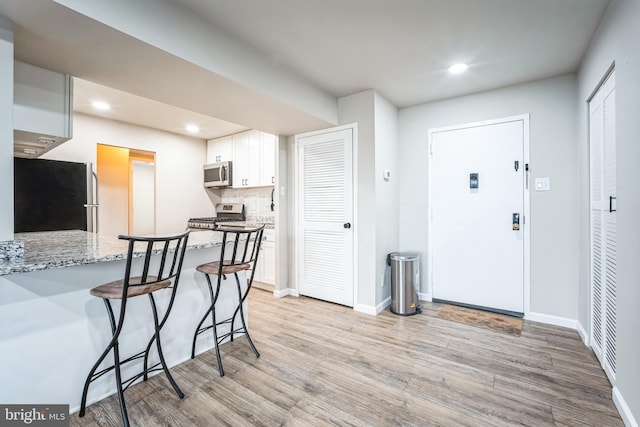
[{"label": "bar stool farther from the camera, nearer the louvered door", "polygon": [[[260,357],[260,353],[256,349],[256,346],[251,340],[247,324],[244,320],[243,303],[249,294],[251,284],[253,283],[253,276],[255,274],[255,265],[258,260],[258,254],[260,253],[260,244],[262,242],[262,233],[264,231],[264,225],[260,227],[224,227],[220,226],[216,229],[222,234],[222,247],[220,249],[220,259],[218,261],[209,262],[196,267],[196,270],[204,273],[207,284],[209,285],[209,296],[211,305],[202,316],[202,320],[198,323],[196,331],[193,334],[193,345],[191,346],[191,358],[196,355],[196,339],[201,333],[213,330],[213,343],[216,350],[216,359],[218,360],[218,371],[220,376],[224,376],[224,369],[222,368],[222,359],[220,358],[219,345],[227,338],[233,341],[233,337],[237,333],[244,333],[249,341],[251,349],[255,353],[256,357]],[[246,271],[247,273],[247,286],[245,290],[242,290],[240,279],[238,278],[238,272]],[[235,308],[233,315],[228,319],[218,321],[216,319],[216,302],[220,295],[220,286],[222,281],[227,279],[227,275],[233,274],[235,278],[236,288],[238,290],[238,305]],[[215,292],[213,284],[211,282],[211,275],[217,276]],[[235,328],[236,316],[240,314],[240,321],[242,326]],[[211,315],[211,325],[202,326],[205,320]],[[229,324],[229,331],[224,334],[218,334],[218,326]]]}]

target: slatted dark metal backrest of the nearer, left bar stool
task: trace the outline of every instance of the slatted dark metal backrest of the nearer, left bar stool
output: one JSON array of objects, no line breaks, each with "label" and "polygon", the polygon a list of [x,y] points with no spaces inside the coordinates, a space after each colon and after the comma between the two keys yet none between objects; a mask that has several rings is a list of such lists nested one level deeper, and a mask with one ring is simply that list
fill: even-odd
[{"label": "slatted dark metal backrest of the nearer, left bar stool", "polygon": [[[127,264],[125,267],[123,298],[131,286],[153,285],[173,280],[178,285],[189,232],[163,237],[118,236],[127,240]],[[157,259],[153,259],[157,256]],[[134,265],[134,258],[144,257],[142,265]],[[154,261],[152,263],[152,260]]]}]

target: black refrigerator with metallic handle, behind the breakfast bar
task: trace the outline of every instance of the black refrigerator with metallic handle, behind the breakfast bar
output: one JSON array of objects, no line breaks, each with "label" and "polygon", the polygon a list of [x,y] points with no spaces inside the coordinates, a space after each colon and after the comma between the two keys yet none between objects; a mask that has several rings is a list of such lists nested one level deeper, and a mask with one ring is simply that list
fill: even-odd
[{"label": "black refrigerator with metallic handle, behind the breakfast bar", "polygon": [[16,157],[14,232],[93,231],[94,176],[90,163]]}]

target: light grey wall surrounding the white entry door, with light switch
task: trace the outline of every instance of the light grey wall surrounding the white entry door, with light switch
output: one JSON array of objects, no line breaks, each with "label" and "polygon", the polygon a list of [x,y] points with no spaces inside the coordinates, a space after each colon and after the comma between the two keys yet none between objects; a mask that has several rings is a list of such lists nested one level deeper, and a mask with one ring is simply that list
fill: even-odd
[{"label": "light grey wall surrounding the white entry door, with light switch", "polygon": [[427,130],[530,114],[532,182],[549,177],[551,191],[531,193],[531,312],[578,316],[578,182],[576,76],[568,75],[400,110],[400,247],[422,257],[427,273]]}]

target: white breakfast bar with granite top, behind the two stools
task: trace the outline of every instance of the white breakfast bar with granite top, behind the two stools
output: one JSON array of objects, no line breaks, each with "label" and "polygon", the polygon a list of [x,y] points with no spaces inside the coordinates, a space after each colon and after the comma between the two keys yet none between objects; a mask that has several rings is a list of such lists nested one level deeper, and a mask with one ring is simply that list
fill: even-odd
[{"label": "white breakfast bar with granite top, behind the two stools", "polygon": [[[221,233],[213,231],[189,235],[175,303],[162,329],[169,366],[191,356],[195,327],[209,307],[206,279],[195,267],[218,259],[220,238]],[[22,233],[15,239],[24,241],[24,257],[0,261],[0,402],[69,404],[70,412],[77,412],[87,373],[111,339],[104,303],[89,290],[122,279],[126,242],[84,231]],[[170,290],[156,294],[162,316]],[[236,301],[235,286],[221,289],[216,304],[220,318],[231,316]],[[113,307],[117,315],[119,301]],[[149,299],[129,299],[120,335],[122,358],[143,349],[153,335],[152,324]],[[213,336],[204,334],[196,354],[212,348]],[[156,362],[157,353],[152,350],[150,358]],[[107,357],[106,363],[112,361]],[[136,362],[130,365],[124,367],[123,378],[140,370]],[[218,368],[212,365],[211,378],[217,376]],[[88,405],[113,393],[110,373],[91,384]]]}]

